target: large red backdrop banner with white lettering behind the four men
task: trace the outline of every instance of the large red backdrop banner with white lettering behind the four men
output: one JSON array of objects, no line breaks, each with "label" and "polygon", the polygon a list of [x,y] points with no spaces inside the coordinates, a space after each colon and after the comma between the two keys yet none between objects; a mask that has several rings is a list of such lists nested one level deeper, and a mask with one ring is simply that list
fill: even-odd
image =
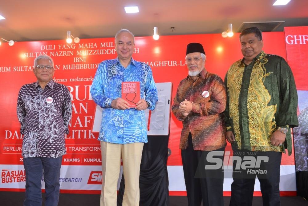
[{"label": "large red backdrop banner with white lettering behind the four men", "polygon": [[[263,33],[266,53],[277,54],[286,59],[285,35],[283,32]],[[229,66],[242,58],[238,34],[222,38],[221,34],[196,34],[136,37],[133,58],[144,61],[153,70],[155,82],[172,82],[172,102],[179,82],[187,76],[185,65],[186,46],[199,42],[207,56],[206,69],[224,79]],[[16,115],[17,95],[20,87],[36,81],[33,60],[46,54],[55,62],[56,82],[66,85],[71,93],[73,116],[66,136],[67,154],[63,156],[61,189],[99,191],[101,182],[101,156],[97,133],[92,133],[95,103],[90,86],[97,65],[116,57],[114,38],[81,39],[80,43],[67,44],[65,40],[16,42],[14,46],[3,43],[0,47],[0,190],[24,188],[21,144],[22,135]],[[288,54],[289,55],[289,54]],[[296,75],[295,75],[296,76]],[[296,76],[297,77],[297,76]],[[168,148],[169,190],[185,191],[179,140],[182,123],[172,115]],[[228,149],[230,151],[230,147]],[[294,155],[283,155],[282,166],[286,175],[291,174],[295,182]],[[19,172],[19,174],[18,174]],[[63,181],[62,181],[63,180]],[[293,180],[293,179],[292,179]],[[230,191],[232,179],[225,179],[225,191]],[[294,183],[295,184],[295,183]],[[294,184],[285,185],[282,191],[296,191]],[[256,186],[256,190],[260,191]],[[177,194],[177,193],[172,193]]]}]

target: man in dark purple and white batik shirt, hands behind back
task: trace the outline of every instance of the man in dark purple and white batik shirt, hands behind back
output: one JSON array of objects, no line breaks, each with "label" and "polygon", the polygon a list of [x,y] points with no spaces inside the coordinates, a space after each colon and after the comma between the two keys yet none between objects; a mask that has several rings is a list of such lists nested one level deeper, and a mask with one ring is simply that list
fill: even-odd
[{"label": "man in dark purple and white batik shirt, hands behind back", "polygon": [[21,87],[17,116],[23,134],[22,156],[26,171],[23,205],[42,205],[41,180],[44,174],[45,205],[58,205],[60,168],[66,153],[64,133],[68,134],[72,105],[66,86],[56,83],[51,57],[34,59],[37,81]]}]

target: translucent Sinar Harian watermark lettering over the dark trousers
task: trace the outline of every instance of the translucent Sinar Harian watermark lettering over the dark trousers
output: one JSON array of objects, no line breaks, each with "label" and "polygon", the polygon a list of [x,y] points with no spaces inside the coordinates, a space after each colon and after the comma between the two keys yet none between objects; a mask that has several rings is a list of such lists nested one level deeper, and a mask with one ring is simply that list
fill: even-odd
[{"label": "translucent Sinar Harian watermark lettering over the dark trousers", "polygon": [[[225,154],[225,156],[224,156]],[[236,156],[230,156],[229,151],[211,151],[206,156],[206,170],[217,170],[224,168],[231,169],[235,163],[233,170],[246,170],[247,174],[266,174],[267,170],[261,170],[261,163],[269,162],[268,156],[253,156],[255,152],[238,152]],[[237,156],[239,155],[239,156]],[[222,160],[224,156],[224,160]]]}]

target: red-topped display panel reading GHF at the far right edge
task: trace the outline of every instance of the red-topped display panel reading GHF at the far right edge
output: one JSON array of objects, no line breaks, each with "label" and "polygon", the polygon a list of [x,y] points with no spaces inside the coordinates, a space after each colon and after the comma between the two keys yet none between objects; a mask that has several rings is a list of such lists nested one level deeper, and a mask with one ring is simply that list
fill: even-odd
[{"label": "red-topped display panel reading GHF at the far right edge", "polygon": [[298,123],[294,128],[296,171],[308,171],[308,26],[286,27],[287,60],[293,71],[298,93]]}]

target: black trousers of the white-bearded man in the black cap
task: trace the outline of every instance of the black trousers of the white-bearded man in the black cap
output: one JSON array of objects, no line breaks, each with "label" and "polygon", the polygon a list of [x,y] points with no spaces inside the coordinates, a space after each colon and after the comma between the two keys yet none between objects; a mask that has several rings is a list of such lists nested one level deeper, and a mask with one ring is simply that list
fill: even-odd
[{"label": "black trousers of the white-bearded man in the black cap", "polygon": [[[223,153],[224,150],[223,147],[215,151]],[[224,205],[224,173],[222,167],[217,170],[205,169],[205,165],[210,164],[206,161],[209,152],[211,151],[193,150],[192,137],[189,133],[188,147],[181,151],[188,206],[200,206],[201,201],[204,206]],[[223,155],[217,158],[220,158],[221,162],[223,161]],[[200,178],[195,176],[196,172]]]}]

